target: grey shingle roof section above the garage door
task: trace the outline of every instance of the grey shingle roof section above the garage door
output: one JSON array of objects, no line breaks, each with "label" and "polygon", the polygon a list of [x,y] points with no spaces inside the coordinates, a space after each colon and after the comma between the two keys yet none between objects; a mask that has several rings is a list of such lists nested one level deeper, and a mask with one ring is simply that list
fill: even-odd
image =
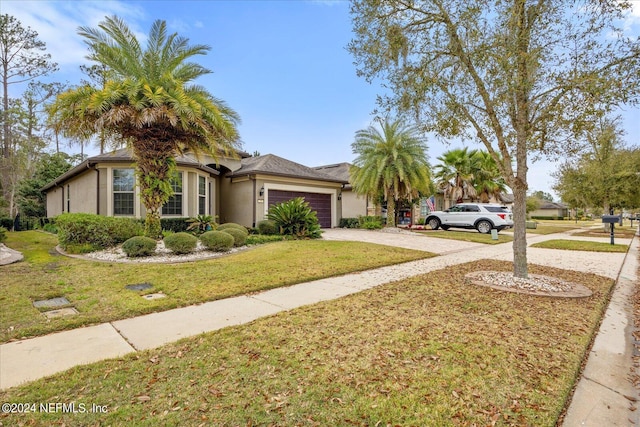
[{"label": "grey shingle roof section above the garage door", "polygon": [[315,170],[300,163],[283,159],[274,154],[264,156],[249,157],[242,159],[240,169],[232,172],[228,176],[245,176],[253,174],[286,176],[290,178],[306,178],[318,181],[339,182],[346,184],[348,180],[337,178],[327,173]]}]

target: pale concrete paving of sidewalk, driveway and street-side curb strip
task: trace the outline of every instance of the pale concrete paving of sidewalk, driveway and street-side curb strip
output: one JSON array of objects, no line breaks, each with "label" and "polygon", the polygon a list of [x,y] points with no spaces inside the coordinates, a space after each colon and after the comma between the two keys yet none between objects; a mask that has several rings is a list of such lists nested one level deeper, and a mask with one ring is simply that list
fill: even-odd
[{"label": "pale concrete paving of sidewalk, driveway and street-side curb strip", "polygon": [[[528,236],[528,243],[565,237],[564,234]],[[2,344],[0,389],[76,365],[155,348],[181,338],[245,324],[280,311],[340,298],[451,265],[479,259],[512,259],[511,243],[486,246],[406,233],[338,229],[326,230],[325,238],[397,245],[440,253],[440,256]],[[564,251],[560,257],[555,250],[528,248],[527,251],[532,264],[618,279],[583,378],[565,418],[565,426],[629,425],[630,419],[637,419],[630,410],[630,404],[638,397],[638,392],[627,377],[633,369],[633,307],[629,304],[629,295],[637,282],[638,239],[633,242],[617,239],[616,243],[631,243],[629,253]]]}]

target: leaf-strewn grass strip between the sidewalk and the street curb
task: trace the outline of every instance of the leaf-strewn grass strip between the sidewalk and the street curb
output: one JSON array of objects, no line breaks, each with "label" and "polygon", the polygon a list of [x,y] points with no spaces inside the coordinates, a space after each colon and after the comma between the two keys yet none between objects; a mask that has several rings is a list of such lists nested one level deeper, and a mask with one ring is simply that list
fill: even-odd
[{"label": "leaf-strewn grass strip between the sidewalk and the street curb", "polygon": [[[275,246],[271,246],[273,250]],[[555,426],[614,281],[557,299],[465,283],[478,261],[0,393],[106,414],[4,414],[4,425]]]}]

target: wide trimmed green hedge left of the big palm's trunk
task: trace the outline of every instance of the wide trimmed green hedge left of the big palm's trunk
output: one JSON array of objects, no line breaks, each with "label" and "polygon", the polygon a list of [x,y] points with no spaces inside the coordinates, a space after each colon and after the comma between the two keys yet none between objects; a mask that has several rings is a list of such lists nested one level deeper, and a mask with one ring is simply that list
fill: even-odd
[{"label": "wide trimmed green hedge left of the big palm's trunk", "polygon": [[134,218],[85,213],[63,213],[56,217],[55,223],[58,241],[65,250],[71,247],[82,247],[89,252],[106,249],[144,232],[142,224]]}]

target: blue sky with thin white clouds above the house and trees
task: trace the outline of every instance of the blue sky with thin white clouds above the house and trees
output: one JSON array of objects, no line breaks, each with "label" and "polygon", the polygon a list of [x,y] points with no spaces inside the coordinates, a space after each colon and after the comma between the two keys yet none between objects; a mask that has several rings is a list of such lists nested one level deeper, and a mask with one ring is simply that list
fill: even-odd
[{"label": "blue sky with thin white clouds above the house and trees", "polygon": [[[627,26],[640,34],[640,1],[634,9]],[[97,27],[105,16],[118,15],[143,40],[153,21],[165,20],[171,32],[192,44],[211,46],[197,61],[213,74],[197,83],[240,114],[243,149],[307,166],[353,161],[354,134],[372,124],[382,92],[356,76],[346,50],[352,38],[347,1],[2,0],[0,13],[38,32],[59,64],[51,80],[69,84],[83,78],[79,66],[88,63],[79,26]],[[637,144],[640,111],[625,112],[623,123],[627,142]],[[443,152],[462,144],[430,138],[428,146],[435,164]],[[555,168],[548,160],[530,163],[530,189],[552,193]]]}]

